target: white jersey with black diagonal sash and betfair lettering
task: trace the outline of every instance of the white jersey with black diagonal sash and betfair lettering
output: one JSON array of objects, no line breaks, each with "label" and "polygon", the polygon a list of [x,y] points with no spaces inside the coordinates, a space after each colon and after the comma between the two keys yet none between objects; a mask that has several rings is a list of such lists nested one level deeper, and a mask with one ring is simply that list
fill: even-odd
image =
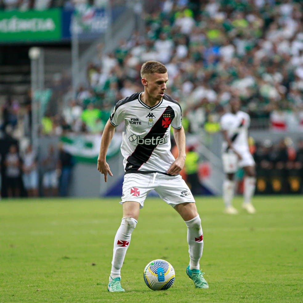
[{"label": "white jersey with black diagonal sash and betfair lettering", "polygon": [[181,107],[168,95],[154,107],[140,99],[135,93],[120,100],[111,113],[110,122],[118,126],[124,121],[121,153],[126,173],[166,174],[175,161],[170,152],[170,126],[180,129]]}]

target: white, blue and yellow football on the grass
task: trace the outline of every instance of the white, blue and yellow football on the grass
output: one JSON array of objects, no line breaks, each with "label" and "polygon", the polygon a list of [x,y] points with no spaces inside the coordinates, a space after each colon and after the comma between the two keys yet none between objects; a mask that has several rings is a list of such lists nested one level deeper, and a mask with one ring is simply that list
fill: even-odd
[{"label": "white, blue and yellow football on the grass", "polygon": [[154,260],[145,266],[143,278],[152,290],[169,289],[175,281],[175,269],[165,260]]}]

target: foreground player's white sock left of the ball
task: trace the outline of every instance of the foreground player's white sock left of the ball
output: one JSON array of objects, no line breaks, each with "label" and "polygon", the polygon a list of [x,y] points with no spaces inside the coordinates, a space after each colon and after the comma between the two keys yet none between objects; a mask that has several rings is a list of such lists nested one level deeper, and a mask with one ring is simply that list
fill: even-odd
[{"label": "foreground player's white sock left of the ball", "polygon": [[121,267],[126,255],[126,251],[131,240],[131,233],[136,227],[137,220],[134,218],[122,218],[121,225],[117,230],[114,240],[114,253],[111,262],[111,275],[109,281],[121,277]]}]

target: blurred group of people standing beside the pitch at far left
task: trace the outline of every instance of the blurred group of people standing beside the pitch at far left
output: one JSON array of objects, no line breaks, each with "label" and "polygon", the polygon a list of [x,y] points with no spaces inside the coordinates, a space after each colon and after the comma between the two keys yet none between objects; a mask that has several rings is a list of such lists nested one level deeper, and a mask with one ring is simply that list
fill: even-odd
[{"label": "blurred group of people standing beside the pitch at far left", "polygon": [[39,158],[29,143],[23,150],[16,140],[6,138],[1,143],[0,198],[2,195],[9,198],[68,195],[75,163],[62,144],[50,145]]}]

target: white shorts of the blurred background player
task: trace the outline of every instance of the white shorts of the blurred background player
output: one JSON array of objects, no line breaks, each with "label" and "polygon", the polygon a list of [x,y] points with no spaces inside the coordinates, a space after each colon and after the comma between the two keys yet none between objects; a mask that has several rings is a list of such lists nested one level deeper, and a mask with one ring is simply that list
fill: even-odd
[{"label": "white shorts of the blurred background player", "polygon": [[242,156],[242,160],[239,160],[233,151],[222,154],[223,170],[226,174],[235,173],[239,167],[255,166],[255,161],[249,151],[238,151],[238,153]]}]

